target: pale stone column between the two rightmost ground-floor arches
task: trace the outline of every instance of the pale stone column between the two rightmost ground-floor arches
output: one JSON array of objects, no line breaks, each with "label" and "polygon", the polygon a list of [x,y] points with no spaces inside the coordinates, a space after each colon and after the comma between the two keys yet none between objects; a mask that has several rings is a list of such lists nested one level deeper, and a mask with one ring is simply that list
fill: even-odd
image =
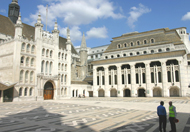
[{"label": "pale stone column between the two rightmost ground-floor arches", "polygon": [[166,69],[166,61],[161,61],[162,63],[162,96],[169,97],[168,88],[167,88],[167,69]]}]

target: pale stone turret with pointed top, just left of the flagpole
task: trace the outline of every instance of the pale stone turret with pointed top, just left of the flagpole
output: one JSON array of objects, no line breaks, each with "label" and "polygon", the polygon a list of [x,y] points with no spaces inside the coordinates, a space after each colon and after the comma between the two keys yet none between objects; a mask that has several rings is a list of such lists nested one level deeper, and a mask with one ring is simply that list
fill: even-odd
[{"label": "pale stone turret with pointed top, just left of the flagpole", "polygon": [[39,13],[37,23],[35,24],[35,40],[42,38],[42,28],[43,24]]}]

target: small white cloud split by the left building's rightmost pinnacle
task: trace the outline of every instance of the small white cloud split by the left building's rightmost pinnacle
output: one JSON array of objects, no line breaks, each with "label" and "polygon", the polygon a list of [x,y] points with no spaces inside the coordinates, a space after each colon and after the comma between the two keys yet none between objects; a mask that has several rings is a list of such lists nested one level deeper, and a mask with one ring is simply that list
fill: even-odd
[{"label": "small white cloud split by the left building's rightmost pinnacle", "polygon": [[[61,28],[60,34],[66,38],[67,37],[67,27]],[[70,35],[71,35],[71,41],[72,42],[82,40],[82,33],[81,33],[80,28],[78,26],[73,26],[72,28],[70,28]]]}]

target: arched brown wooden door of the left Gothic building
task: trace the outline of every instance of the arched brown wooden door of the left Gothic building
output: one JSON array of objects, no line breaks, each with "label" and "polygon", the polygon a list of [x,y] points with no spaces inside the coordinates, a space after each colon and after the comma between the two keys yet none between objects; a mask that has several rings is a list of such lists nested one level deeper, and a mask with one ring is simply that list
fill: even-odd
[{"label": "arched brown wooden door of the left Gothic building", "polygon": [[44,100],[53,99],[53,95],[53,84],[51,82],[46,82],[46,84],[44,85]]}]

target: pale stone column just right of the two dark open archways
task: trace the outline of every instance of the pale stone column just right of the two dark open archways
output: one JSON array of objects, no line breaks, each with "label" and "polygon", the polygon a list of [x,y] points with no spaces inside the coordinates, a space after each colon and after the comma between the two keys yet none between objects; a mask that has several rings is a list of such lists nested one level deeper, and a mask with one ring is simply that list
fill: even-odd
[{"label": "pale stone column just right of the two dark open archways", "polygon": [[146,96],[147,97],[151,97],[153,96],[152,95],[152,88],[150,87],[151,86],[151,78],[150,78],[150,62],[146,62],[145,63],[145,68],[146,68]]}]

